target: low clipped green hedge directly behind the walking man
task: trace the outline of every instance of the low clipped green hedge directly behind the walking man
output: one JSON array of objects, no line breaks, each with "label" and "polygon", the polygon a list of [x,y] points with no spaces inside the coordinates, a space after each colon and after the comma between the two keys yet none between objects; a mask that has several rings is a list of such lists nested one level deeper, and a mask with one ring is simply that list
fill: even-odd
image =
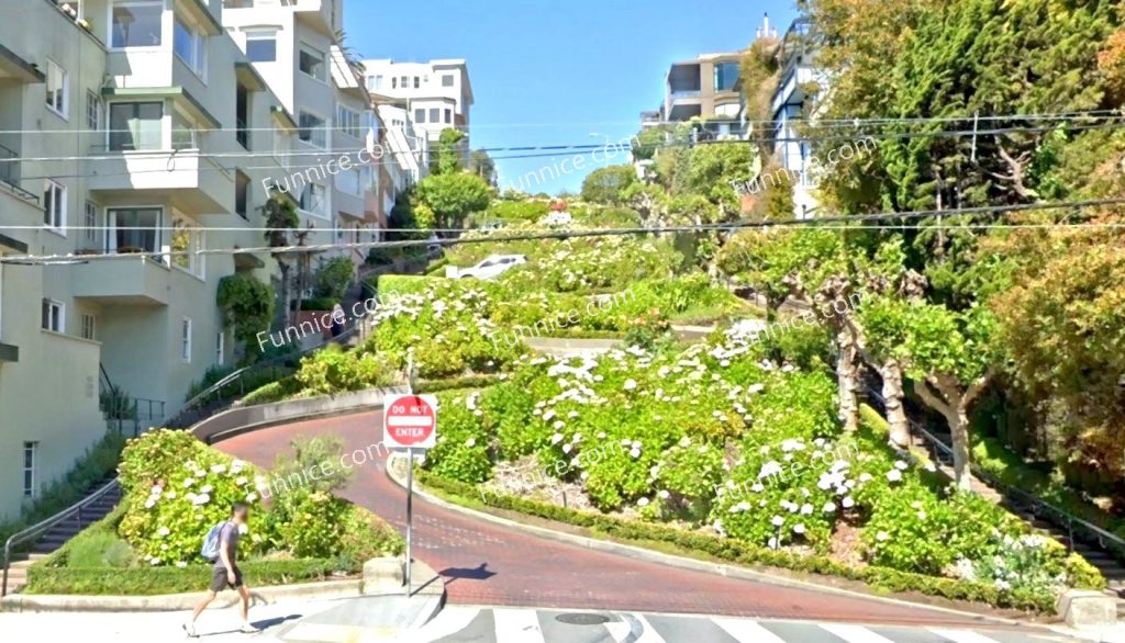
[{"label": "low clipped green hedge directly behind the walking man", "polygon": [[[340,563],[345,562],[343,559]],[[354,573],[361,563],[307,559],[244,561],[238,563],[250,587],[327,580],[336,571]],[[350,567],[351,569],[339,569]],[[25,594],[76,594],[93,596],[152,596],[202,591],[210,582],[212,565],[153,568],[73,569],[47,567],[40,561],[27,570]]]}]

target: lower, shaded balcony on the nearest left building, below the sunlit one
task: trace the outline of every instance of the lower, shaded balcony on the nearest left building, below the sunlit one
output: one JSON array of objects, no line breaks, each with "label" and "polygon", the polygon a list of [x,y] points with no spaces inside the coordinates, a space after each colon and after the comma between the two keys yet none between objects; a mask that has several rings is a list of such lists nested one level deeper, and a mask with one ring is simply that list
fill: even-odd
[{"label": "lower, shaded balcony on the nearest left building, below the sunlit one", "polygon": [[76,298],[126,306],[168,306],[172,271],[163,263],[137,256],[96,260],[71,268]]}]

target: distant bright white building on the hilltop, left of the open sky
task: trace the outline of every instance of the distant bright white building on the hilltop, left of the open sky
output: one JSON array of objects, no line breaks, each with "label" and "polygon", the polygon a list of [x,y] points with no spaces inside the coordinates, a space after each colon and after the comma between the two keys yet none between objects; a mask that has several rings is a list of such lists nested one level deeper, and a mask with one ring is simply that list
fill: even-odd
[{"label": "distant bright white building on the hilltop, left of the open sky", "polygon": [[472,85],[464,58],[435,60],[428,63],[396,63],[393,60],[363,61],[367,87],[378,97],[396,99],[406,110],[414,129],[430,142],[438,143],[446,128],[460,129],[465,159],[469,151],[469,110]]}]

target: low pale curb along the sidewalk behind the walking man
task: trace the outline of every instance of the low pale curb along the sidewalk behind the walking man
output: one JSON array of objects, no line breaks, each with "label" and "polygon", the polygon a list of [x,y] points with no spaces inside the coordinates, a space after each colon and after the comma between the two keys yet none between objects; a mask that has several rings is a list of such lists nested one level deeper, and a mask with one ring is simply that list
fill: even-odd
[{"label": "low pale curb along the sidewalk behind the walking man", "polygon": [[[353,579],[260,587],[251,590],[251,605],[271,605],[288,599],[352,598],[362,596],[362,583]],[[191,609],[205,596],[205,591],[156,596],[12,594],[0,600],[0,612],[179,612]],[[223,592],[212,605],[224,608],[237,603],[237,594]]]}]

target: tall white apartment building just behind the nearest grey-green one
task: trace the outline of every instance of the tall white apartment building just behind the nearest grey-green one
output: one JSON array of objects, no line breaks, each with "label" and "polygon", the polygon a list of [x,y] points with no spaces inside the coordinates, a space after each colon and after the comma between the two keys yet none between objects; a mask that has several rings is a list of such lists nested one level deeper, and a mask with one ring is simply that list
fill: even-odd
[{"label": "tall white apartment building just behind the nearest grey-green one", "polygon": [[[338,43],[343,0],[226,0],[223,26],[254,70],[297,121],[286,175],[273,184],[299,203],[306,244],[360,239],[360,230],[384,223],[377,165],[359,163],[360,150],[377,141],[377,121],[361,76]],[[348,156],[354,166],[332,174],[330,161]],[[375,163],[379,163],[376,161]],[[336,229],[334,234],[316,230]],[[376,233],[377,234],[377,233]],[[366,251],[339,251],[357,263]],[[331,254],[331,253],[330,253]]]}]

